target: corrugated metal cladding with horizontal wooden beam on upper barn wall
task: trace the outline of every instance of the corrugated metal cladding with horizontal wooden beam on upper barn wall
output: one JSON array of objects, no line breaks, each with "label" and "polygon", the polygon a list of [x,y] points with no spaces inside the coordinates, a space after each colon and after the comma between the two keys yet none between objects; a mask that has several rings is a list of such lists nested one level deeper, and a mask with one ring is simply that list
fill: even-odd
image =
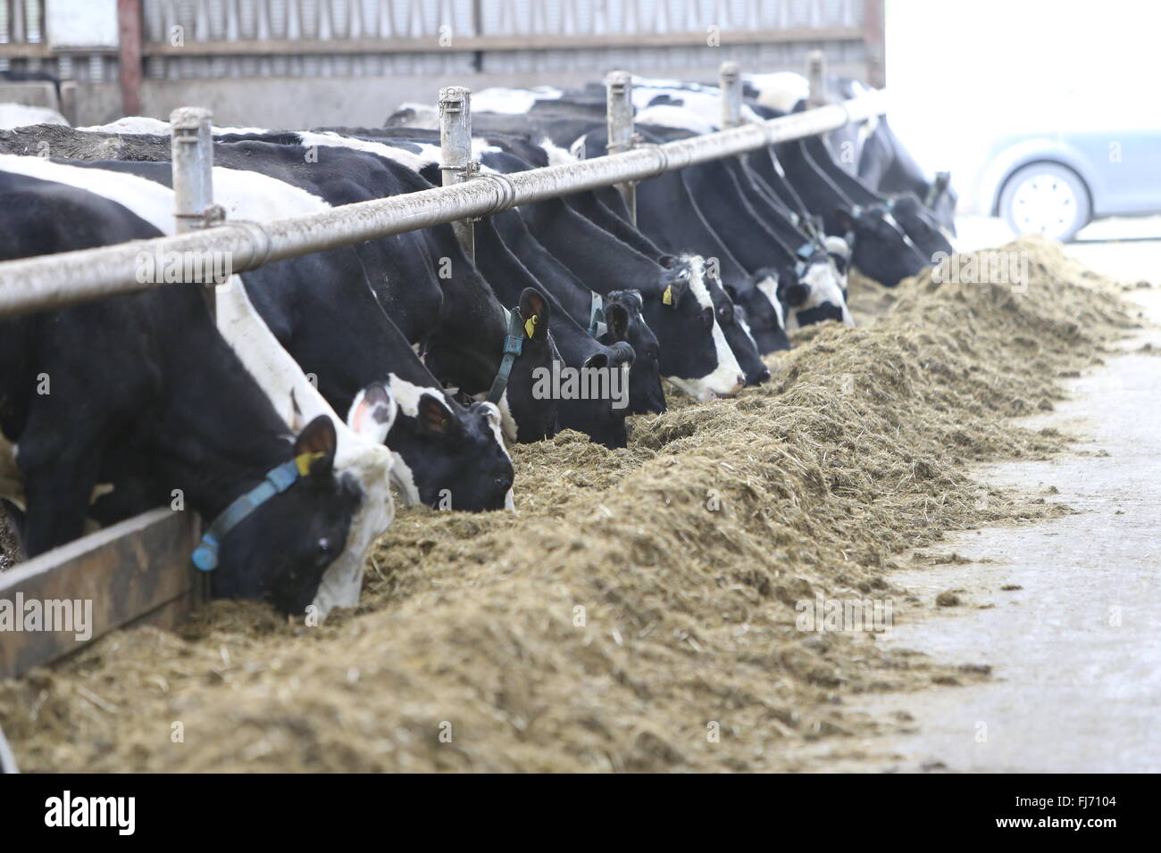
[{"label": "corrugated metal cladding with horizontal wooden beam on upper barn wall", "polygon": [[[0,0],[0,46],[44,41],[43,2]],[[395,77],[464,73],[801,68],[867,63],[864,0],[143,0],[145,77]],[[806,30],[817,30],[812,38]],[[769,38],[760,36],[769,34]],[[785,37],[795,34],[794,37]],[[375,51],[373,39],[388,43]],[[265,43],[265,45],[262,44]],[[231,46],[232,45],[232,46]],[[15,44],[13,45],[15,46]],[[333,49],[332,49],[333,46]],[[116,79],[108,50],[20,55],[0,67],[82,81]]]}]

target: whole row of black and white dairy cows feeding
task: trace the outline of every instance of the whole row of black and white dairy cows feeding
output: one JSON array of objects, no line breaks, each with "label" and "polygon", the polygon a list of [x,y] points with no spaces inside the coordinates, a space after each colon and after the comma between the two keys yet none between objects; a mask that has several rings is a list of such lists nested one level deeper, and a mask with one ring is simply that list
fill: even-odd
[{"label": "whole row of black and white dairy cows feeding", "polygon": [[[802,84],[751,78],[745,117],[802,109]],[[709,87],[639,80],[634,103],[643,144],[717,129]],[[477,93],[474,156],[604,154],[604,110],[599,87]],[[215,129],[215,202],[264,222],[431,188],[434,120]],[[147,118],[0,131],[0,260],[173,233],[170,157]],[[442,225],[272,262],[217,288],[216,324],[196,283],[0,318],[5,507],[29,556],[194,509],[215,595],[325,615],[358,600],[392,487],[512,508],[510,442],[623,447],[628,414],[665,411],[662,379],[700,400],[764,382],[788,330],[852,324],[850,267],[893,285],[951,251],[953,208],[880,118],[642,181],[635,224],[606,188],[477,222],[475,261]]]}]

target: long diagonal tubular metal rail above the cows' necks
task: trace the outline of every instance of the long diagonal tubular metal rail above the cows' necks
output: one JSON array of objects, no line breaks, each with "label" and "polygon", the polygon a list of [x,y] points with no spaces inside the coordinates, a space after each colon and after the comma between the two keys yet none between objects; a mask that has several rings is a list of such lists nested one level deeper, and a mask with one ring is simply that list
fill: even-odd
[{"label": "long diagonal tubular metal rail above the cows' necks", "polygon": [[241,273],[286,258],[644,180],[773,143],[836,130],[880,111],[878,99],[857,99],[663,145],[642,145],[618,154],[509,175],[482,174],[446,187],[317,214],[266,223],[229,221],[174,237],[6,261],[0,263],[0,316],[58,309],[159,287],[138,281],[143,253],[153,256],[228,253],[232,272]]}]

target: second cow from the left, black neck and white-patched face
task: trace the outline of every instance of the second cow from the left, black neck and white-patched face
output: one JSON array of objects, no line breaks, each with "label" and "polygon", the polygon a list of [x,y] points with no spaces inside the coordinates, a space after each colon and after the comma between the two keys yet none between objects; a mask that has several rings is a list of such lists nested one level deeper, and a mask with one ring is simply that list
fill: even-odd
[{"label": "second cow from the left, black neck and white-patched face", "polygon": [[[237,149],[237,150],[236,150]],[[218,145],[215,198],[229,216],[266,221],[329,205],[307,187],[347,166],[345,152],[319,154],[322,168],[296,174],[303,152],[267,143]],[[168,186],[166,162],[92,161],[93,168],[136,174]],[[245,168],[236,168],[237,166]],[[294,180],[294,186],[288,180]],[[398,403],[385,436],[396,456],[392,479],[410,504],[455,509],[512,506],[513,470],[498,435],[499,410],[464,409],[419,361],[368,287],[353,250],[318,252],[245,273],[251,301],[277,341],[337,411],[349,411],[361,389],[383,382]]]}]

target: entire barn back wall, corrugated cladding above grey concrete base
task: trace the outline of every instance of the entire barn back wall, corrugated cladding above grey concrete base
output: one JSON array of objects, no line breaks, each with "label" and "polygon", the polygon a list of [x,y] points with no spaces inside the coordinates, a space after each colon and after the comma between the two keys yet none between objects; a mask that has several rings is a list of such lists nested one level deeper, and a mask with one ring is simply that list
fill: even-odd
[{"label": "entire barn back wall, corrugated cladding above grey concrete base", "polygon": [[[91,1],[0,0],[0,67],[77,80],[81,124],[121,115],[116,48],[56,43],[41,22]],[[159,117],[205,106],[230,124],[378,124],[450,82],[574,86],[614,67],[711,81],[726,59],[800,71],[813,49],[834,72],[881,82],[881,3],[142,0],[142,104]]]}]

